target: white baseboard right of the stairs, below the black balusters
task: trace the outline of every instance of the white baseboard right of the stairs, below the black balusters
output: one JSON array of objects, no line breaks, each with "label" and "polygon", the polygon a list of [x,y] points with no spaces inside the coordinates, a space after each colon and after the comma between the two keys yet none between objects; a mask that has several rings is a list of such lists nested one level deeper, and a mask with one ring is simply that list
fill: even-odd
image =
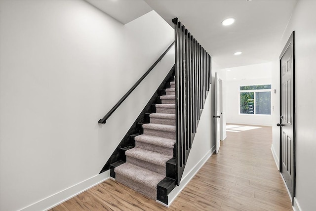
[{"label": "white baseboard right of the stairs, below the black balusters", "polygon": [[211,157],[213,152],[215,151],[215,146],[213,146],[204,156],[203,158],[197,163],[197,165],[191,169],[191,171],[182,177],[180,185],[176,186],[171,193],[168,195],[168,205],[165,205],[163,203],[160,203],[166,207],[169,207],[172,202],[177,198],[179,193],[185,188],[185,186],[190,182],[190,180],[196,175],[197,171],[205,164],[205,162]]}]

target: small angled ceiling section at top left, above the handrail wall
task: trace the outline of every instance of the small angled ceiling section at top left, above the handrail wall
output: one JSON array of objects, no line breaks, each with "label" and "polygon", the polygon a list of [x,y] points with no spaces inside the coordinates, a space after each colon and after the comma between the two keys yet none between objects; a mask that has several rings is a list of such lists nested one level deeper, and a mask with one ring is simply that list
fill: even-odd
[{"label": "small angled ceiling section at top left, above the handrail wall", "polygon": [[143,0],[86,0],[122,24],[152,11]]}]

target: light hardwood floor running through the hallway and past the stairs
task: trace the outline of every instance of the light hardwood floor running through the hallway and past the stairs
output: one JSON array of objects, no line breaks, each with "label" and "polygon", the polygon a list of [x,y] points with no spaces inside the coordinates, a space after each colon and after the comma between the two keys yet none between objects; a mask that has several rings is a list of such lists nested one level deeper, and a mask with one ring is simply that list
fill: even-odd
[{"label": "light hardwood floor running through the hallway and past the stairs", "polygon": [[270,150],[272,128],[238,131],[246,128],[227,132],[219,153],[210,157],[169,208],[109,179],[51,211],[292,211]]}]

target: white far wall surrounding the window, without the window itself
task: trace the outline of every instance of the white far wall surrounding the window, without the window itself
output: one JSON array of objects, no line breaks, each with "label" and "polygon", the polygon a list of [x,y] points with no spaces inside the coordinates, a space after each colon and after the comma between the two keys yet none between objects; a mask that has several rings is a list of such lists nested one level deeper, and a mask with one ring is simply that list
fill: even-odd
[{"label": "white far wall surrounding the window, without the window itself", "polygon": [[[271,63],[230,68],[226,80],[226,121],[233,124],[272,126],[272,115],[239,114],[239,87],[271,84]],[[226,70],[224,70],[226,71]],[[236,79],[234,79],[234,78]],[[245,80],[240,80],[245,79]],[[271,95],[273,95],[273,89]],[[273,108],[272,108],[273,109]]]}]

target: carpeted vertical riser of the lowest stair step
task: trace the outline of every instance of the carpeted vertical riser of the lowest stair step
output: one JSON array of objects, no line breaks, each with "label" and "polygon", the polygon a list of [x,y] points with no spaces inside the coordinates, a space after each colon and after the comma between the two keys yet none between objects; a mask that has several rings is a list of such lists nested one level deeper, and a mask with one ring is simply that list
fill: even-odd
[{"label": "carpeted vertical riser of the lowest stair step", "polygon": [[129,179],[125,176],[122,176],[117,173],[115,180],[119,183],[122,183],[123,185],[126,185],[127,187],[151,198],[156,200],[157,199],[157,187],[156,189],[150,188],[144,184],[141,184],[139,182],[135,182],[132,179]]}]

